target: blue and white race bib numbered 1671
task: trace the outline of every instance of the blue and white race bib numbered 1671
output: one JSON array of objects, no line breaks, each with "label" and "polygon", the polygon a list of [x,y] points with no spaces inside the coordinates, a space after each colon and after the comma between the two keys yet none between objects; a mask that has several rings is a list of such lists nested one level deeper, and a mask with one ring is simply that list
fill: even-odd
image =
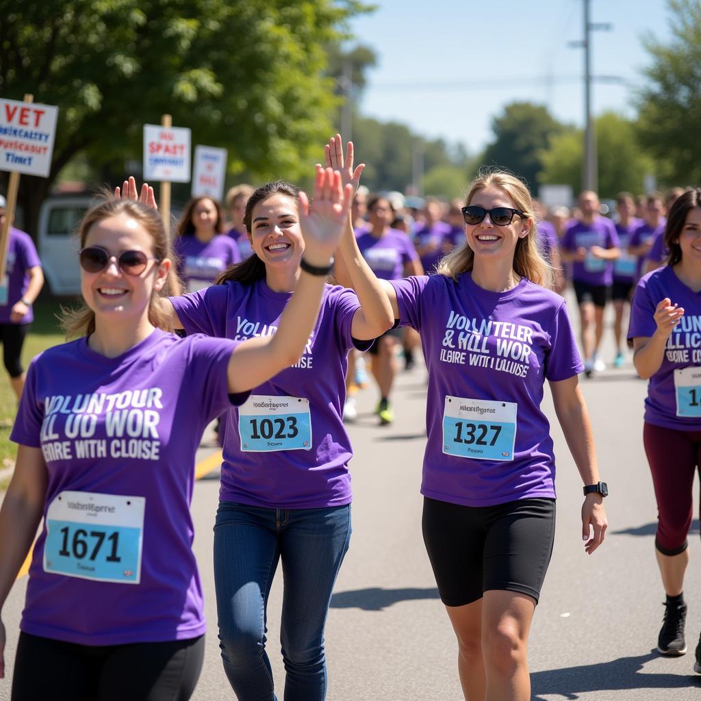
[{"label": "blue and white race bib numbered 1671", "polygon": [[62,491],[46,513],[44,571],[138,584],[145,507],[143,496]]}]

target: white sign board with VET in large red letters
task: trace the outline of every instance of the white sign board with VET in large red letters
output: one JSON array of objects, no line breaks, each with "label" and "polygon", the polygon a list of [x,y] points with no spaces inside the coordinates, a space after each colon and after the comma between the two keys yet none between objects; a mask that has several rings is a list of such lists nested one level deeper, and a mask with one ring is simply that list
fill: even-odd
[{"label": "white sign board with VET in large red letters", "polygon": [[58,107],[0,99],[0,170],[48,177]]}]

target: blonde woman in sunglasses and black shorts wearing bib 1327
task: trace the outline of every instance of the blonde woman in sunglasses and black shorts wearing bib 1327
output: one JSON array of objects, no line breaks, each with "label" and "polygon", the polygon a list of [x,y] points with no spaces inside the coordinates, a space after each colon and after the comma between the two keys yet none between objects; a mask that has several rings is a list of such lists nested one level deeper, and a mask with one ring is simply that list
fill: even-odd
[{"label": "blonde woman in sunglasses and black shorts wearing bib 1327", "polygon": [[[479,173],[463,207],[465,242],[437,274],[383,283],[400,325],[421,334],[428,368],[423,537],[458,639],[469,701],[531,697],[527,643],[554,536],[554,455],[540,402],[547,380],[585,484],[582,538],[606,516],[582,363],[552,271],[538,253],[528,189]],[[354,243],[339,250],[355,280]],[[339,278],[340,279],[340,278]],[[593,533],[592,533],[593,527]]]}]

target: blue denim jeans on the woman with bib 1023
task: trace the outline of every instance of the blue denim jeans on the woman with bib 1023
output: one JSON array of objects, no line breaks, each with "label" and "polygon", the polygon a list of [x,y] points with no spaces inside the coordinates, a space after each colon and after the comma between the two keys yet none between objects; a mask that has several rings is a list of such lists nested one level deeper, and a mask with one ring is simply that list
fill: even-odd
[{"label": "blue denim jeans on the woman with bib 1023", "polygon": [[351,505],[266,509],[222,501],[215,522],[219,647],[238,701],[277,701],[266,654],[268,596],[283,562],[285,701],[323,701],[324,626],[351,538]]}]

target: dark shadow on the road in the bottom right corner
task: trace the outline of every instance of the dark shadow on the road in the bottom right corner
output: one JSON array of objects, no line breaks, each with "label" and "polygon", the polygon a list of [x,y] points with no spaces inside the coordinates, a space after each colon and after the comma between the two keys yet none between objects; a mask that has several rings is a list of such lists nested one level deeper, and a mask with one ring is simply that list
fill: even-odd
[{"label": "dark shadow on the road in the bottom right corner", "polygon": [[[660,657],[657,651],[637,657],[618,658],[596,665],[565,669],[547,669],[531,674],[531,701],[549,701],[545,697],[560,696],[576,700],[582,693],[627,689],[674,689],[697,687],[701,676],[695,674],[660,674],[643,672],[643,665]],[[654,698],[641,694],[640,698]]]}]

